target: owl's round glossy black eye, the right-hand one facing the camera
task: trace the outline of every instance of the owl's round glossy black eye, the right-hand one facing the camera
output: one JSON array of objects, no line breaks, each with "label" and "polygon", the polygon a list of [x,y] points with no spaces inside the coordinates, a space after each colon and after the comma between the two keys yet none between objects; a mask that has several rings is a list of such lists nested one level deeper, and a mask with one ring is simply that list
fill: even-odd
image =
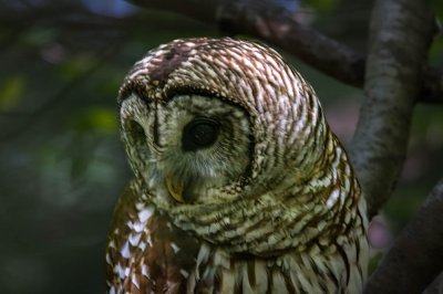
[{"label": "owl's round glossy black eye, the right-hand one facing the camera", "polygon": [[209,118],[196,118],[183,129],[182,145],[185,151],[195,151],[213,145],[219,133],[219,124]]}]

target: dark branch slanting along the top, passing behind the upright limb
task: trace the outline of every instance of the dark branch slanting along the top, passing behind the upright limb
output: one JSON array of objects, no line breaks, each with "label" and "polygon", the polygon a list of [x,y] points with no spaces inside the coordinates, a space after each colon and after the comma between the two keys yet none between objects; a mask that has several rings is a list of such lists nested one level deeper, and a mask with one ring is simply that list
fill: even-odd
[{"label": "dark branch slanting along the top, passing behind the upright limb", "polygon": [[[230,34],[262,39],[295,54],[317,70],[353,86],[363,86],[365,57],[315,29],[298,23],[275,1],[240,0],[131,0],[151,9],[173,11],[209,24],[219,24]],[[425,63],[424,63],[425,64]],[[443,103],[443,72],[430,67],[424,74],[420,102]]]}]

